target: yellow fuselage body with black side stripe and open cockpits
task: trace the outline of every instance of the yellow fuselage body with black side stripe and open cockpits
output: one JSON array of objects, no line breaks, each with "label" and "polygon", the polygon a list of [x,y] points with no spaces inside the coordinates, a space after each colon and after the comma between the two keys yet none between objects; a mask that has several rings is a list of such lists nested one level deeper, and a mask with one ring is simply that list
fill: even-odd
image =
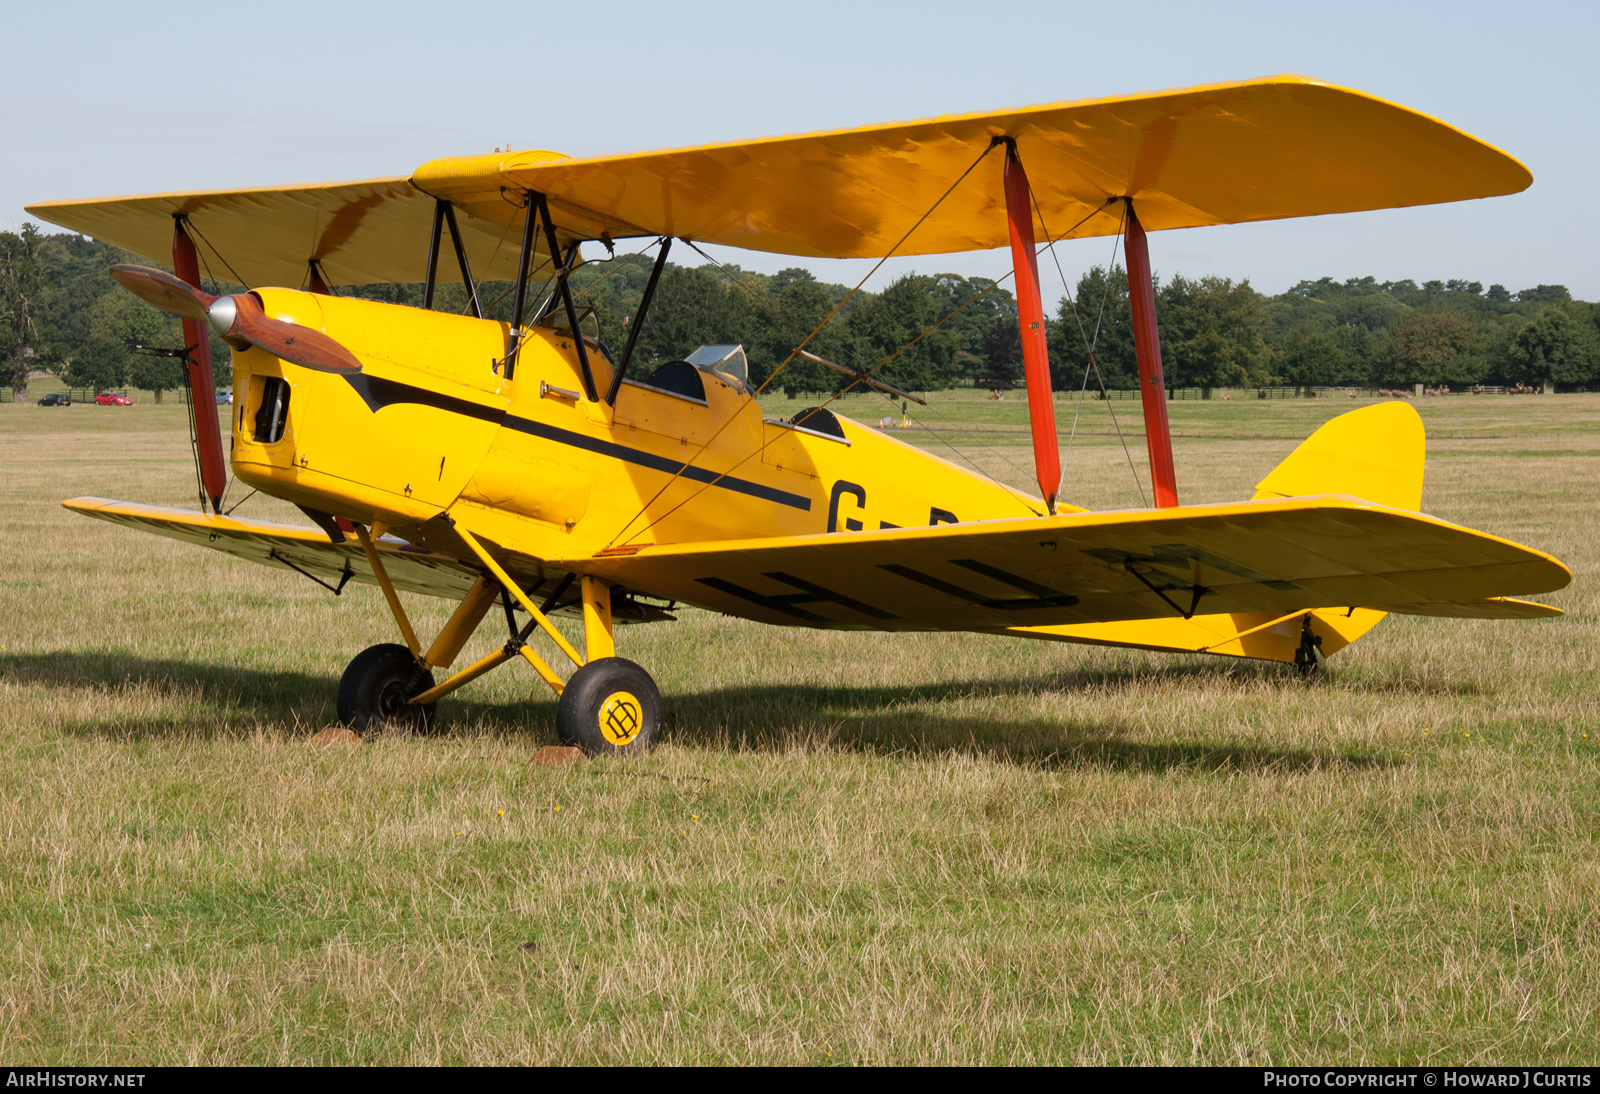
[{"label": "yellow fuselage body with black side stripe and open cockpits", "polygon": [[[258,294],[269,315],[325,331],[363,369],[317,373],[235,350],[234,473],[413,542],[429,542],[430,521],[451,510],[475,510],[474,528],[496,542],[557,558],[1043,509],[850,419],[838,417],[842,437],[832,437],[763,417],[738,379],[707,369],[704,400],[630,376],[614,408],[590,401],[565,328],[531,328],[507,381],[507,323],[291,289]],[[589,361],[603,393],[611,361],[592,339]]]}]

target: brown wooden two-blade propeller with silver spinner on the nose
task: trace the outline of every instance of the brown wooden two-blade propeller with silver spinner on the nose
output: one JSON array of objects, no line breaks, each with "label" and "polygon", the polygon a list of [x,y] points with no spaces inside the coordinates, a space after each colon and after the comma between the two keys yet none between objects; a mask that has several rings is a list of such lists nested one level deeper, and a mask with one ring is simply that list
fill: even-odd
[{"label": "brown wooden two-blade propeller with silver spinner on the nose", "polygon": [[274,357],[304,365],[318,373],[358,373],[362,363],[322,331],[275,320],[251,293],[211,296],[181,281],[166,270],[147,266],[114,266],[110,275],[125,289],[168,315],[210,323],[226,339],[259,345]]}]

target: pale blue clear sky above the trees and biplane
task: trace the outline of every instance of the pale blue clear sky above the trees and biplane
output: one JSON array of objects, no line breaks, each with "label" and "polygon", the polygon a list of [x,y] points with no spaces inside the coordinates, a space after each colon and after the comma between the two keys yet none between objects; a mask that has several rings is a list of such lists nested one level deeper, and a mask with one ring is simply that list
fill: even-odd
[{"label": "pale blue clear sky above the trees and biplane", "polygon": [[[1600,3],[8,5],[0,227],[42,198],[405,174],[1302,72],[1522,158],[1486,202],[1163,232],[1160,274],[1462,277],[1600,299]],[[864,262],[776,270],[854,281]],[[1110,253],[1066,245],[1069,277]],[[1005,253],[891,261],[998,275]],[[1050,267],[1053,270],[1053,267]],[[1050,275],[1046,275],[1048,278]],[[1050,293],[1046,280],[1046,294]]]}]

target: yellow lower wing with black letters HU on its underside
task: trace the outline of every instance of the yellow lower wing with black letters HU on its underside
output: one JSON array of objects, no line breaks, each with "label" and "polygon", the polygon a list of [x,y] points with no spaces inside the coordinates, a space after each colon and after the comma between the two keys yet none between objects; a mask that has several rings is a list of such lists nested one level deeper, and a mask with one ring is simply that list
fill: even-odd
[{"label": "yellow lower wing with black letters HU on its underside", "polygon": [[1429,605],[1571,581],[1542,552],[1349,496],[646,545],[554,561],[730,616],[866,630],[1275,619],[1331,605],[1435,614]]}]

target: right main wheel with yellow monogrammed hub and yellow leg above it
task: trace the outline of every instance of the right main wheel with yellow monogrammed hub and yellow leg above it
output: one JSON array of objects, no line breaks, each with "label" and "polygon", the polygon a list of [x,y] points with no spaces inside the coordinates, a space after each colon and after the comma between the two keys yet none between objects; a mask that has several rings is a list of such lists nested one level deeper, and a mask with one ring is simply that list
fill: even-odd
[{"label": "right main wheel with yellow monogrammed hub and yellow leg above it", "polygon": [[661,691],[650,673],[614,656],[611,590],[584,577],[584,667],[571,675],[555,710],[562,741],[589,755],[637,755],[661,736]]}]

